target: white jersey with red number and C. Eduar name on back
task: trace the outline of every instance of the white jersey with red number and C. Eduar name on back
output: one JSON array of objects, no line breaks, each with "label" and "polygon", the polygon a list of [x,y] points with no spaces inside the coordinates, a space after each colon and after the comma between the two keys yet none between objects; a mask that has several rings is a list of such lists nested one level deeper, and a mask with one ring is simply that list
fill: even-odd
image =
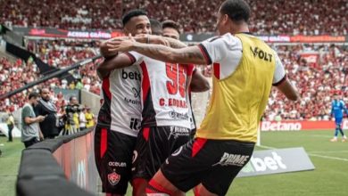
[{"label": "white jersey with red number and C. Eduar name on back", "polygon": [[190,128],[186,86],[194,66],[156,61],[135,52],[129,54],[140,62],[142,126]]}]

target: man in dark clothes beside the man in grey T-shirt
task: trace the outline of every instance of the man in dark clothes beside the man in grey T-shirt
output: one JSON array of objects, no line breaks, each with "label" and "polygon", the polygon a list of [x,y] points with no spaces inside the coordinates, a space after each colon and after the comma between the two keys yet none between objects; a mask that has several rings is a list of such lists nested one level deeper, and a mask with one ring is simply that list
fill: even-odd
[{"label": "man in dark clothes beside the man in grey T-shirt", "polygon": [[51,94],[48,88],[40,90],[41,99],[34,108],[37,116],[46,116],[45,120],[39,123],[40,129],[44,138],[54,139],[60,132],[59,118],[57,116],[57,109],[53,102],[51,102]]}]

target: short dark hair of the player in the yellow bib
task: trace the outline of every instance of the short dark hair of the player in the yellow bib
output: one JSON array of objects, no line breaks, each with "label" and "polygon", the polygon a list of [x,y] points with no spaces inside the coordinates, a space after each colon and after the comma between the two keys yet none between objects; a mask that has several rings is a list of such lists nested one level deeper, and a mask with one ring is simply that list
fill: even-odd
[{"label": "short dark hair of the player in the yellow bib", "polygon": [[221,4],[220,12],[228,14],[228,18],[235,22],[248,22],[250,6],[244,0],[226,0]]}]

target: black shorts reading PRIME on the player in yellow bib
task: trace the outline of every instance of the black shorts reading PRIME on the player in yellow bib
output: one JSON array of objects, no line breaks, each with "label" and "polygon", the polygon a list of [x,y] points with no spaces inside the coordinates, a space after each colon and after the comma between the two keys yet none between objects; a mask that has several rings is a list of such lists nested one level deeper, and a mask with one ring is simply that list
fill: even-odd
[{"label": "black shorts reading PRIME on the player in yellow bib", "polygon": [[163,175],[179,190],[198,184],[218,195],[226,195],[233,179],[251,159],[254,143],[195,138],[162,164]]}]

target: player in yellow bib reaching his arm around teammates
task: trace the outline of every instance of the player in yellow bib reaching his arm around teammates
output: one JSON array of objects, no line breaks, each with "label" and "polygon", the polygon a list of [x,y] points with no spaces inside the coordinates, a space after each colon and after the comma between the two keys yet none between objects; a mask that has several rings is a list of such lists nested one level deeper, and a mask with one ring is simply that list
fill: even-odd
[{"label": "player in yellow bib reaching his arm around teammates", "polygon": [[227,0],[218,12],[213,37],[200,45],[173,49],[125,40],[112,50],[135,51],[172,63],[213,64],[209,109],[195,139],[174,152],[149,182],[151,195],[171,195],[194,188],[197,195],[226,195],[228,187],[250,160],[257,127],[271,86],[292,101],[299,99],[286,78],[278,55],[249,33],[250,7],[244,0]]}]

